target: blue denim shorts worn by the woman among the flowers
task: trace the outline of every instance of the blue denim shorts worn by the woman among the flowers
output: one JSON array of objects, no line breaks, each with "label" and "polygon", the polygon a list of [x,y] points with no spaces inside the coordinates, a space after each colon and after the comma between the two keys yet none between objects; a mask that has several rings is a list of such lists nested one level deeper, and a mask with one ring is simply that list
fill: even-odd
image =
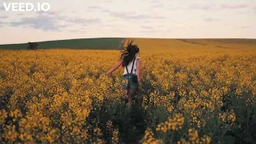
[{"label": "blue denim shorts worn by the woman among the flowers", "polygon": [[120,85],[124,90],[138,90],[138,76],[136,74],[124,74],[121,77]]}]

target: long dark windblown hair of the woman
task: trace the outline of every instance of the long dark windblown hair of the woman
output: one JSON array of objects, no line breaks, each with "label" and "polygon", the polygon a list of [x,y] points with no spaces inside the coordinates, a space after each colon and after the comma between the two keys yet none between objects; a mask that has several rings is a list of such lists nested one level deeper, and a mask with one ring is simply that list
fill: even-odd
[{"label": "long dark windblown hair of the woman", "polygon": [[133,40],[127,43],[127,46],[122,50],[121,58],[123,58],[122,66],[127,66],[133,61],[135,55],[138,53],[139,48],[137,45],[133,45]]}]

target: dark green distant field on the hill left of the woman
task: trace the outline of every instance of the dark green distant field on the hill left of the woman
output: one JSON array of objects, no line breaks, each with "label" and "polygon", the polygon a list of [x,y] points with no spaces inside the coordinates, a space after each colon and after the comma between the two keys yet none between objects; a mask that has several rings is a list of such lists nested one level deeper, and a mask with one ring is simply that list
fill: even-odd
[{"label": "dark green distant field on the hill left of the woman", "polygon": [[[118,50],[124,38],[82,38],[38,42],[39,49]],[[26,50],[28,43],[0,45],[0,49]]]}]

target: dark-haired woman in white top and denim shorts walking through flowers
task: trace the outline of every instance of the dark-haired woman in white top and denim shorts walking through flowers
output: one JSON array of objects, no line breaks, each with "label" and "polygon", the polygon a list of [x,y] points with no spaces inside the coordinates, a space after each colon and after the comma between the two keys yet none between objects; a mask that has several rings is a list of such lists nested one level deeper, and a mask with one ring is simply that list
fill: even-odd
[{"label": "dark-haired woman in white top and denim shorts walking through flowers", "polygon": [[[133,41],[132,41],[133,42]],[[141,58],[137,57],[139,48],[137,45],[133,45],[132,42],[128,42],[125,50],[122,50],[121,58],[119,62],[113,66],[108,72],[101,74],[101,76],[111,74],[114,70],[117,70],[122,65],[124,73],[121,78],[120,85],[122,90],[127,95],[123,98],[128,98],[128,103],[132,102],[135,92],[138,90],[138,84],[141,82]]]}]

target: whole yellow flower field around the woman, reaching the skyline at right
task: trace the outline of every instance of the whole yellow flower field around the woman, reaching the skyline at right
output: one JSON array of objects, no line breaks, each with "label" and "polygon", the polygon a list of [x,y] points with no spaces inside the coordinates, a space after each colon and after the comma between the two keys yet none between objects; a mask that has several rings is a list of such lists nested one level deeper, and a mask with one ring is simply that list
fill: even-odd
[{"label": "whole yellow flower field around the woman, reaching the skyline at right", "polygon": [[142,82],[131,108],[123,68],[99,77],[118,50],[0,50],[1,142],[256,142],[254,44],[135,43]]}]

